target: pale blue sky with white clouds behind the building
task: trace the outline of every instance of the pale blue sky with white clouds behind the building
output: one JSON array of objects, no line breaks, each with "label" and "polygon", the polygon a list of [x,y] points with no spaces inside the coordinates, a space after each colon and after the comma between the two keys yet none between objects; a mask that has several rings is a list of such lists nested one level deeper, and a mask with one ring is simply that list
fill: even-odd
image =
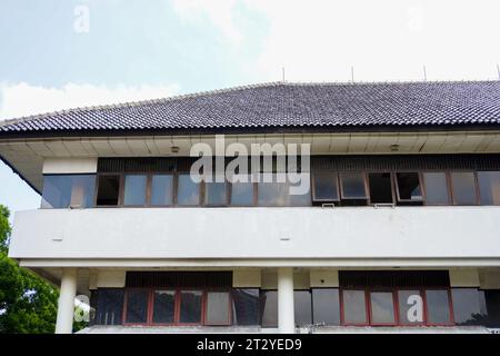
[{"label": "pale blue sky with white clouds behind the building", "polygon": [[[1,0],[0,120],[280,81],[499,79],[498,0]],[[353,78],[352,78],[353,75]],[[0,204],[40,197],[0,162]]]}]

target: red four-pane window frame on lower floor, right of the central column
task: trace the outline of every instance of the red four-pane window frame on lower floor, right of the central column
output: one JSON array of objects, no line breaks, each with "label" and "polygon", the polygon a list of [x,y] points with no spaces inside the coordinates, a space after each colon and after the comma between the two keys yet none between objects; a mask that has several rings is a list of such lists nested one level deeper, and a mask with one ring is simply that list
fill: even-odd
[{"label": "red four-pane window frame on lower floor, right of the central column", "polygon": [[[343,303],[343,291],[344,290],[362,290],[364,291],[364,310],[367,315],[367,323],[346,323],[344,316],[344,303]],[[422,323],[412,323],[407,324],[402,323],[399,313],[399,291],[400,290],[418,290],[422,298],[423,306],[423,322]],[[450,319],[449,323],[429,323],[428,318],[428,304],[427,304],[427,290],[446,290],[448,294],[448,307]],[[391,291],[392,293],[392,303],[394,308],[394,323],[373,323],[372,310],[371,310],[371,296],[372,291]],[[394,287],[394,288],[382,288],[382,287],[369,287],[369,288],[339,288],[339,301],[340,301],[340,326],[404,326],[404,327],[418,327],[418,326],[454,326],[454,316],[453,316],[453,300],[451,298],[451,287]]]}]

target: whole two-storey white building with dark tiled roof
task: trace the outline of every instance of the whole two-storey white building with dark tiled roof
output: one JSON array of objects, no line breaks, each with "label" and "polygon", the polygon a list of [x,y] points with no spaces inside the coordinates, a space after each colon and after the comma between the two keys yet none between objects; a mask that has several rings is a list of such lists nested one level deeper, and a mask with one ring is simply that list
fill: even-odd
[{"label": "whole two-storey white building with dark tiled roof", "polygon": [[60,286],[58,333],[77,295],[88,333],[500,327],[499,81],[81,108],[1,123],[0,155],[41,195],[9,255]]}]

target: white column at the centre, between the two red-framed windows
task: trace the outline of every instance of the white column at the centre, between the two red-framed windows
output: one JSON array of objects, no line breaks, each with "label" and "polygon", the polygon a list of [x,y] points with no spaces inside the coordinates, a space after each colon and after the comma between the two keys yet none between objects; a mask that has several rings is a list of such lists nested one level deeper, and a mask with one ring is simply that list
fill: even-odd
[{"label": "white column at the centre, between the two red-framed windows", "polygon": [[281,334],[296,332],[293,312],[293,268],[278,268],[278,328]]}]

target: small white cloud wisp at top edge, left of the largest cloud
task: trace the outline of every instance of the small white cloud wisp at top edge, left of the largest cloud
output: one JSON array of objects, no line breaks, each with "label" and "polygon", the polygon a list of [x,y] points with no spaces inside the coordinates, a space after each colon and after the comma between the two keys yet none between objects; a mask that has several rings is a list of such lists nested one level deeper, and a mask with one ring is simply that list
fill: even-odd
[{"label": "small white cloud wisp at top edge, left of the largest cloud", "polygon": [[200,19],[211,21],[233,44],[241,42],[242,36],[234,23],[234,0],[173,0],[173,9],[186,23],[197,24]]}]

